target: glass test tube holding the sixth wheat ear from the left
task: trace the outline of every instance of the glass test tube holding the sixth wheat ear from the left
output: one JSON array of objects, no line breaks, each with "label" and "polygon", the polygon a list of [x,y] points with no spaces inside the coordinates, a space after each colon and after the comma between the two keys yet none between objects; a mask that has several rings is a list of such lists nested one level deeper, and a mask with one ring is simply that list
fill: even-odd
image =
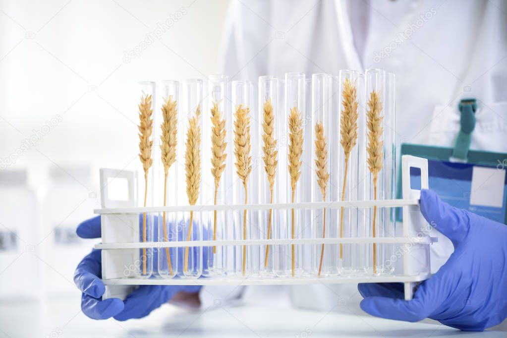
[{"label": "glass test tube holding the sixth wheat ear from the left", "polygon": [[[279,139],[279,111],[278,111],[278,77],[259,77],[259,109],[258,123],[259,140],[262,142],[259,147],[258,157],[262,159],[259,173],[260,203],[277,203],[275,190],[279,189],[276,184],[276,176],[279,173],[278,167],[278,139]],[[261,210],[259,212],[259,228],[261,238],[273,239],[276,215],[278,210]],[[263,276],[274,276],[274,254],[273,246],[261,246],[260,271]]]}]

